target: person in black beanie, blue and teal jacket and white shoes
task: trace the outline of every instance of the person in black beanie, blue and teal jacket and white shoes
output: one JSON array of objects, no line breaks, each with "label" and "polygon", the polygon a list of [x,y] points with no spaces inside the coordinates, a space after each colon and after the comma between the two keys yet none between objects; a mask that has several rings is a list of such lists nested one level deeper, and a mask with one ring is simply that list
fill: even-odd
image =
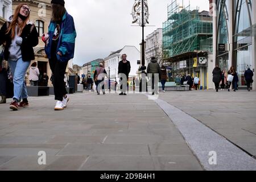
[{"label": "person in black beanie, blue and teal jacket and white shoes", "polygon": [[69,97],[64,84],[68,61],[75,52],[76,28],[73,17],[65,9],[64,0],[52,0],[52,19],[44,38],[46,54],[54,76],[55,110],[67,107]]}]

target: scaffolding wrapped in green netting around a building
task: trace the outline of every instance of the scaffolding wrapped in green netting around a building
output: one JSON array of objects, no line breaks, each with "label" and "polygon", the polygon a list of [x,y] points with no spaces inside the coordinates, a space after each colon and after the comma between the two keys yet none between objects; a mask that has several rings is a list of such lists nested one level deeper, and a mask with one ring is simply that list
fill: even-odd
[{"label": "scaffolding wrapped in green netting around a building", "polygon": [[163,23],[163,51],[166,60],[189,52],[213,51],[213,23],[208,11],[182,8],[176,0],[168,6],[168,19]]}]

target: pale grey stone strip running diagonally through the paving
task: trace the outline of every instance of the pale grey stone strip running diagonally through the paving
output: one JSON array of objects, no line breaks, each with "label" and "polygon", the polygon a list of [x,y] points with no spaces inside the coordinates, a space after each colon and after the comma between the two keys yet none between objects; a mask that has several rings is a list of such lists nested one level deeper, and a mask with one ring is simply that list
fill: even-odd
[{"label": "pale grey stone strip running diagonally through the paving", "polygon": [[[193,154],[206,170],[256,170],[256,160],[236,144],[166,101],[154,101],[180,130]],[[211,151],[217,154],[217,165],[209,163],[208,154]]]}]

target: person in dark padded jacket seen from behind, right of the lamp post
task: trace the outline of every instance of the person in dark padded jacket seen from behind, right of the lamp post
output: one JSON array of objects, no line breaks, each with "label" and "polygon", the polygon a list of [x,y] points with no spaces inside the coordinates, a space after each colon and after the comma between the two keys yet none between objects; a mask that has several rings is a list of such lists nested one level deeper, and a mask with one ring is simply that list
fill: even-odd
[{"label": "person in dark padded jacket seen from behind, right of the lamp post", "polygon": [[[147,66],[147,73],[152,74],[152,95],[158,94],[158,88],[155,89],[155,74],[158,74],[159,80],[161,78],[161,68],[158,64],[158,60],[155,57],[151,57],[151,63]],[[156,85],[158,87],[158,84]]]}]

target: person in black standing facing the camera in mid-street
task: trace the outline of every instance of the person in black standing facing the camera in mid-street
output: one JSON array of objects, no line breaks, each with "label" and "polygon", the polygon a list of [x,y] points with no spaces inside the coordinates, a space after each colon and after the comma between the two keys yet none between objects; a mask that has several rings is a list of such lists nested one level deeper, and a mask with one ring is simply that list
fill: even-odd
[{"label": "person in black standing facing the camera in mid-street", "polygon": [[[129,81],[129,73],[131,71],[131,64],[130,61],[126,60],[127,55],[123,54],[122,55],[122,61],[119,62],[118,64],[118,74],[124,74],[126,76],[127,79],[127,83]],[[120,77],[120,81],[122,81],[123,78]],[[127,90],[127,85],[125,86],[125,88],[123,88],[123,85],[121,85],[120,87],[121,89],[121,93],[119,94],[120,96],[125,95],[126,96],[126,90]]]}]

